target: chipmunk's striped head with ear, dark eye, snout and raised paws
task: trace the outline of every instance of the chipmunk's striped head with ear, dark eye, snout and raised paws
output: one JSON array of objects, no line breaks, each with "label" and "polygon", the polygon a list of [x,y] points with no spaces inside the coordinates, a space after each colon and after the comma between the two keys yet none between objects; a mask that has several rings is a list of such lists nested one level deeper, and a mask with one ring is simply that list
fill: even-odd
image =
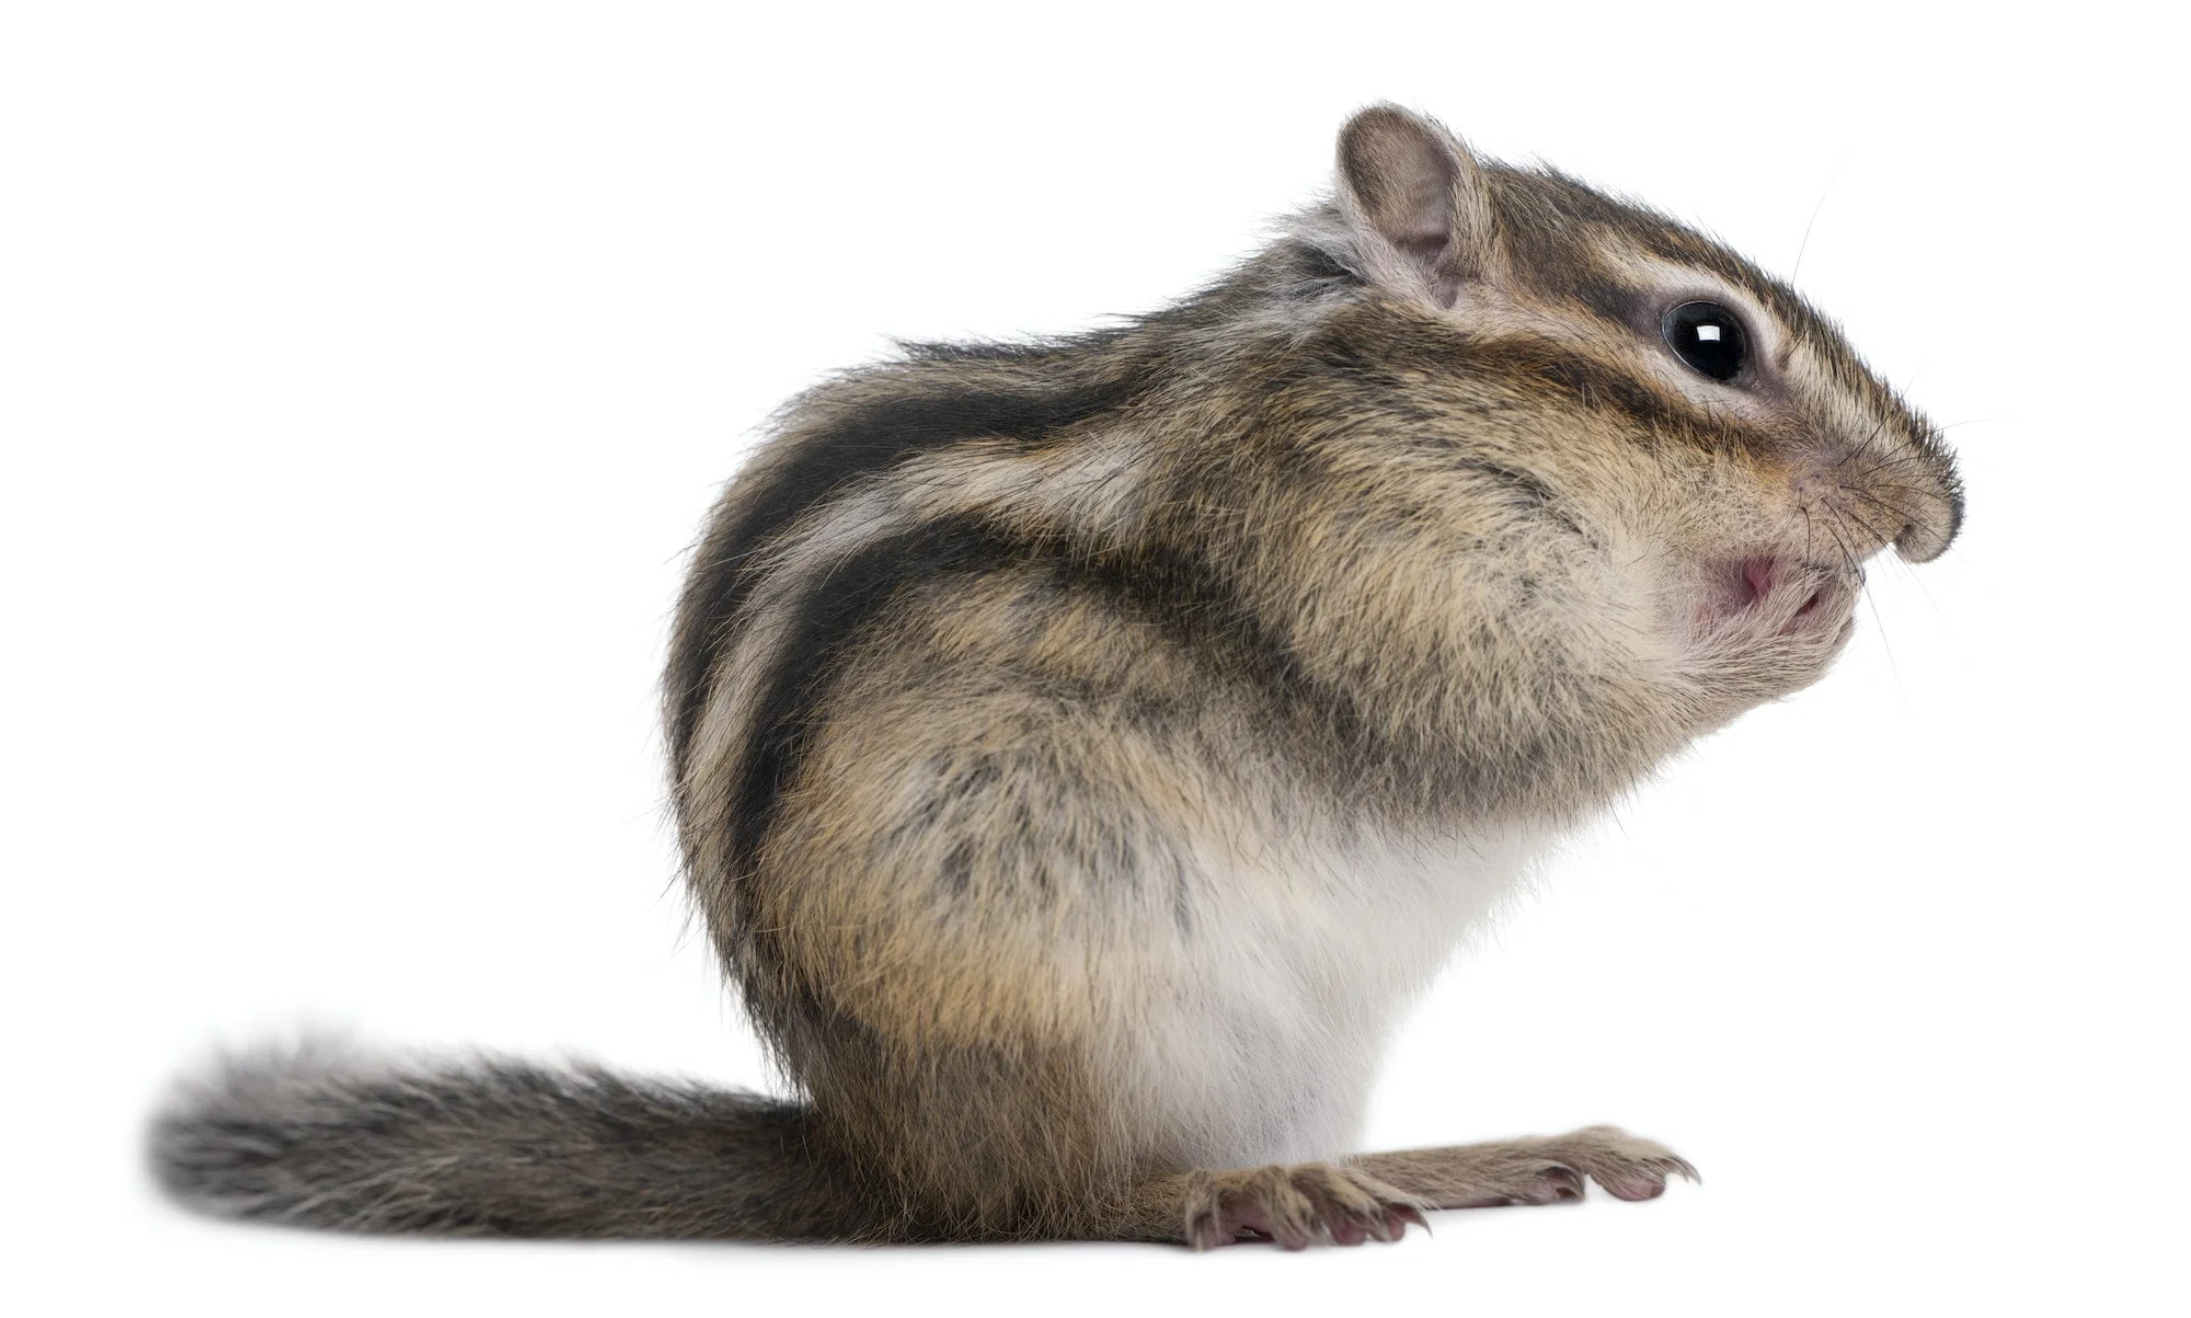
[{"label": "chipmunk's striped head with ear, dark eye, snout and raised paws", "polygon": [[1733,703],[1823,672],[1871,554],[1954,539],[1939,431],[1720,243],[1396,107],[1341,131],[1339,219],[1317,245],[1365,307],[1415,326],[1418,368],[1444,342],[1475,383],[1470,447],[1632,554],[1674,650]]}]

